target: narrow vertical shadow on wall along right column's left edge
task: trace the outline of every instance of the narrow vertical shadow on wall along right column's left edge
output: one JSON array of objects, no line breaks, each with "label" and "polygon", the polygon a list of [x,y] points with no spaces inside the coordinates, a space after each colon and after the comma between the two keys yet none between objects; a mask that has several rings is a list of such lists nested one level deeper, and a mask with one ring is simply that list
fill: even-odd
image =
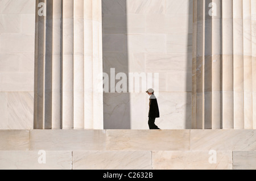
[{"label": "narrow vertical shadow on wall along right column's left edge", "polygon": [[[193,0],[189,0],[189,20],[187,36],[187,80],[186,80],[186,106],[185,106],[185,129],[192,128],[192,42],[193,42]],[[190,68],[190,70],[189,70]]]}]

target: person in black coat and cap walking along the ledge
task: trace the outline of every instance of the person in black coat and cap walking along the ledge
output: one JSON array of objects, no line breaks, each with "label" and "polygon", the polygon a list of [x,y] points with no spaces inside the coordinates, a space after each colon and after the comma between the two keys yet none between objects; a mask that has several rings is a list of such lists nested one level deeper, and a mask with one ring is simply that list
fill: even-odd
[{"label": "person in black coat and cap walking along the ledge", "polygon": [[159,129],[155,125],[156,117],[160,117],[158,101],[156,100],[156,96],[154,95],[153,89],[148,89],[146,92],[150,96],[149,112],[148,112],[148,126],[150,129]]}]

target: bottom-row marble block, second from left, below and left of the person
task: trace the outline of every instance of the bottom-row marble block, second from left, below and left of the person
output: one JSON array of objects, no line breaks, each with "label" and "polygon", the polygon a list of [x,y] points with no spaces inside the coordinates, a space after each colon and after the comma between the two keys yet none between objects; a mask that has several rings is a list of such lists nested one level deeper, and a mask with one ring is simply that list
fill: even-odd
[{"label": "bottom-row marble block, second from left, below and left of the person", "polygon": [[150,170],[151,151],[73,151],[74,170]]}]

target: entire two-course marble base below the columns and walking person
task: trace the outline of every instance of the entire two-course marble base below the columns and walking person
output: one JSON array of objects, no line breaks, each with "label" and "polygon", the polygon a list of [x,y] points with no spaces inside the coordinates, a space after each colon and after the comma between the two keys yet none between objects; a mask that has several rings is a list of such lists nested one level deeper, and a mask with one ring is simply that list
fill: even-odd
[{"label": "entire two-course marble base below the columns and walking person", "polygon": [[0,169],[255,170],[255,137],[255,130],[5,130]]}]

